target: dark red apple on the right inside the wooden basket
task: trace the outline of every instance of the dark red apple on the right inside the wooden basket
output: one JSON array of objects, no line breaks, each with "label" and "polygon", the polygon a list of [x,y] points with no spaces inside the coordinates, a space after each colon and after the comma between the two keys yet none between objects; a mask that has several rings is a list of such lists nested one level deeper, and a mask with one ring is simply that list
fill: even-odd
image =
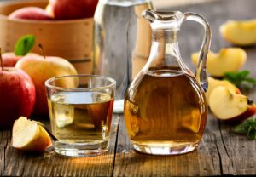
[{"label": "dark red apple on the right inside the wooden basket", "polygon": [[93,17],[98,0],[49,0],[56,20],[71,20]]}]

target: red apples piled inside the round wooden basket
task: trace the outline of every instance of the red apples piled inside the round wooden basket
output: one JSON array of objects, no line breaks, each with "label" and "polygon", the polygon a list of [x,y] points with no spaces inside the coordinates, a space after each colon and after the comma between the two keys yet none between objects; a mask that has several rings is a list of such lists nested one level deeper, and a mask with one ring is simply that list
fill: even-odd
[{"label": "red apples piled inside the round wooden basket", "polygon": [[9,19],[73,20],[90,18],[96,10],[97,0],[49,0],[45,9],[26,7],[9,14]]}]

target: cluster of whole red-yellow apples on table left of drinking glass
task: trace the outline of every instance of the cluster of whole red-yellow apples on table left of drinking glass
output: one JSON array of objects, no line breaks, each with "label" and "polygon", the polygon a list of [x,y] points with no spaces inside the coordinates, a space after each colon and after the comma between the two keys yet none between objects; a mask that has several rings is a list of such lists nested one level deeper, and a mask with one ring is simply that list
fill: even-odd
[{"label": "cluster of whole red-yellow apples on table left of drinking glass", "polygon": [[30,117],[32,113],[48,117],[45,81],[50,77],[77,74],[73,65],[63,58],[32,53],[3,54],[1,64],[0,128],[11,128],[15,119]]}]

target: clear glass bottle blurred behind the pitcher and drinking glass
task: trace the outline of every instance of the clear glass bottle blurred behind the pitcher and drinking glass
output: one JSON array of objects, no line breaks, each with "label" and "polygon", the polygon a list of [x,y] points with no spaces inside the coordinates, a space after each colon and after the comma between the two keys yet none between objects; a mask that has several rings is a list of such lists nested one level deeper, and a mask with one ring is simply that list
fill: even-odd
[{"label": "clear glass bottle blurred behind the pitcher and drinking glass", "polygon": [[150,54],[151,28],[141,15],[145,9],[153,9],[151,0],[100,0],[96,8],[94,73],[116,80],[116,100],[124,99]]}]

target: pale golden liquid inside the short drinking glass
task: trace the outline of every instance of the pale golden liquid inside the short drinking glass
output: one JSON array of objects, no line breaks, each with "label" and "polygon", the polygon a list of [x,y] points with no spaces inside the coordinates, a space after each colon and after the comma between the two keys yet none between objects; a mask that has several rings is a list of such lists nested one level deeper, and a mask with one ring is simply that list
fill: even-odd
[{"label": "pale golden liquid inside the short drinking glass", "polygon": [[101,92],[60,92],[51,96],[53,134],[65,143],[104,142],[109,138],[113,97]]}]

